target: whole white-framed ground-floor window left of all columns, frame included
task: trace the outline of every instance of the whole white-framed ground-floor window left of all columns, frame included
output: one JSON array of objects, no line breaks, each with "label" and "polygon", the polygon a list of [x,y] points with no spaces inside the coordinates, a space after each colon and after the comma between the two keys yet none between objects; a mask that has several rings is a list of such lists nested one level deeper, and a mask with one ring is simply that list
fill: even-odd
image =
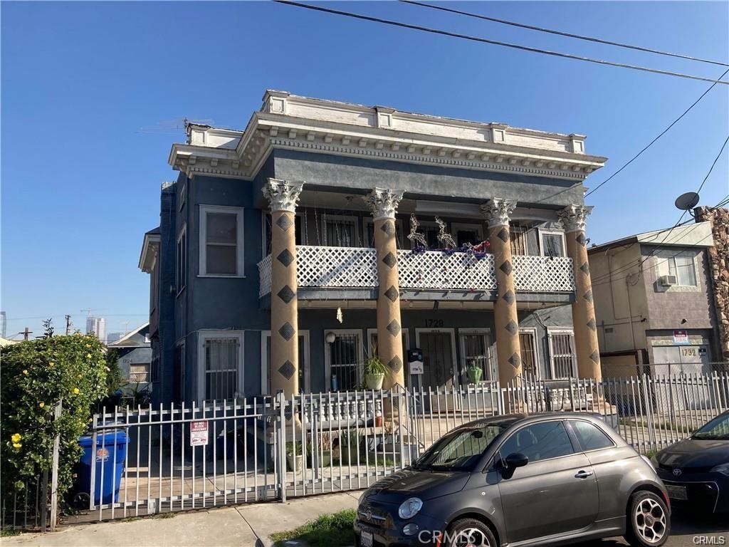
[{"label": "whole white-framed ground-floor window left of all columns, frame included", "polygon": [[200,334],[204,400],[233,399],[243,393],[243,333],[221,330]]}]

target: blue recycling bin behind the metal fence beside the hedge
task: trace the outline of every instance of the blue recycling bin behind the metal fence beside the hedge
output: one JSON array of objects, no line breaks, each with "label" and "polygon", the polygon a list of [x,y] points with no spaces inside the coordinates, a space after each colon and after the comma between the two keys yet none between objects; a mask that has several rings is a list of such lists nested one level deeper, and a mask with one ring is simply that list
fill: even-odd
[{"label": "blue recycling bin behind the metal fence beside the hedge", "polygon": [[81,457],[78,486],[80,492],[91,492],[91,466],[95,462],[94,505],[119,501],[119,484],[122,480],[128,440],[128,435],[123,429],[107,430],[104,434],[97,434],[95,447],[92,446],[91,435],[79,439],[84,455]]}]

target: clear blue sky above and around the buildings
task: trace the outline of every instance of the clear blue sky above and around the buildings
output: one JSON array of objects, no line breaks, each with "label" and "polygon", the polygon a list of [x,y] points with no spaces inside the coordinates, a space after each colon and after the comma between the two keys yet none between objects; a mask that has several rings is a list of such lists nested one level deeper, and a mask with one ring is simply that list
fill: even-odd
[{"label": "clear blue sky above and around the buildings", "polygon": [[[462,18],[392,2],[324,4],[533,47],[718,77],[726,67]],[[461,9],[728,62],[726,2],[470,2]],[[379,26],[261,2],[2,2],[1,308],[8,333],[81,309],[107,332],[144,322],[142,234],[180,117],[243,128],[266,88],[413,112],[588,135],[609,158],[595,187],[683,112],[706,82]],[[673,225],[729,134],[729,86],[588,203],[603,242]],[[729,193],[728,152],[701,195]],[[28,319],[26,319],[28,318]]]}]

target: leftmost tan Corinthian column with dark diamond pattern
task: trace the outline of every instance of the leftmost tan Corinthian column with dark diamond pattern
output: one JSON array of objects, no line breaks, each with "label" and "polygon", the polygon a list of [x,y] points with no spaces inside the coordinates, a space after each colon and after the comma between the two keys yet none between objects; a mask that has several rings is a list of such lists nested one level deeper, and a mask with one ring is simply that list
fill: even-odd
[{"label": "leftmost tan Corinthian column with dark diamond pattern", "polygon": [[[261,191],[271,209],[271,394],[299,392],[299,305],[296,279],[296,203],[303,182],[268,179]],[[265,351],[265,348],[264,348]]]}]

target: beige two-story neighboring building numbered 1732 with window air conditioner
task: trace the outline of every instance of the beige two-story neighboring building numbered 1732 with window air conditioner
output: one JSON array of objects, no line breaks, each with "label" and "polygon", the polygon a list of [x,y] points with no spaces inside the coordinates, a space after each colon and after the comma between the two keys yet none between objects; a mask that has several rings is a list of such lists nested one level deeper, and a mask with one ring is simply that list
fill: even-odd
[{"label": "beige two-story neighboring building numbered 1732 with window air conditioner", "polygon": [[604,377],[726,368],[713,246],[712,223],[696,222],[588,249]]}]

